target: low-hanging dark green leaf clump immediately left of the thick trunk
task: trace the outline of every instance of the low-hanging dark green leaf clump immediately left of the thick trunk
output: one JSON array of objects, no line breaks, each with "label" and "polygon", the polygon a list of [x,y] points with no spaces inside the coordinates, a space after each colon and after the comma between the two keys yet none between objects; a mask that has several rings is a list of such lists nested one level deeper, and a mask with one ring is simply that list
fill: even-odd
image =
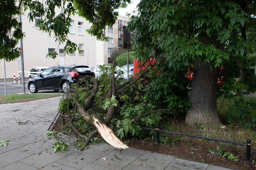
[{"label": "low-hanging dark green leaf clump immediately left of the thick trunk", "polygon": [[[190,107],[188,101],[190,80],[186,78],[183,71],[175,71],[166,67],[166,65],[155,67],[159,67],[161,73],[156,73],[156,69],[151,74],[152,79],[145,88],[147,100],[152,105],[156,105],[157,108],[168,108],[174,116],[185,113]],[[184,65],[180,70],[186,68],[186,65]],[[154,74],[156,74],[155,78]]]}]

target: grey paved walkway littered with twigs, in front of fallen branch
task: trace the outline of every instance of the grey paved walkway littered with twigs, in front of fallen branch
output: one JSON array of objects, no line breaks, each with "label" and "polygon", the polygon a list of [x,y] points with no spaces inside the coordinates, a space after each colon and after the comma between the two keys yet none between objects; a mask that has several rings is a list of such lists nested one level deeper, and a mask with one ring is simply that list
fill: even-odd
[{"label": "grey paved walkway littered with twigs, in front of fallen branch", "polygon": [[[0,105],[0,141],[11,141],[0,147],[0,170],[230,170],[133,148],[119,150],[105,143],[53,153],[55,141],[43,134],[58,113],[59,100]],[[29,122],[19,125],[14,118]]]}]

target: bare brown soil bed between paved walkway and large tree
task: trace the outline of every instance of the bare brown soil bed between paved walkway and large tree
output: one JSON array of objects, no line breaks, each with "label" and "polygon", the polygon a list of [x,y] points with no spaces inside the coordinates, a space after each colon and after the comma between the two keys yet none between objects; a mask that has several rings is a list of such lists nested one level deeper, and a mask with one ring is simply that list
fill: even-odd
[{"label": "bare brown soil bed between paved walkway and large tree", "polygon": [[[176,121],[176,123],[177,125],[179,125],[180,133],[191,134],[191,132],[196,131],[196,128],[193,129],[185,125],[181,126],[181,123],[183,123],[182,121]],[[61,131],[59,127],[61,127],[60,117],[57,119],[52,130]],[[128,146],[130,148],[137,148],[150,152],[168,154],[174,157],[180,157],[202,163],[209,163],[236,170],[256,170],[256,153],[251,153],[251,162],[247,163],[246,146],[232,144],[222,145],[222,143],[217,141],[208,141],[206,139],[199,139],[180,135],[177,136],[175,134],[165,135],[161,133],[161,136],[166,137],[166,139],[168,138],[167,143],[160,143],[159,145],[156,145],[155,142],[152,140],[142,139],[123,139],[122,141],[128,143]],[[230,160],[227,157],[220,157],[208,151],[208,148],[216,151],[217,146],[221,146],[221,149],[224,152],[231,152],[235,157],[237,157],[238,161]],[[256,150],[256,147],[252,146],[251,149]]]}]

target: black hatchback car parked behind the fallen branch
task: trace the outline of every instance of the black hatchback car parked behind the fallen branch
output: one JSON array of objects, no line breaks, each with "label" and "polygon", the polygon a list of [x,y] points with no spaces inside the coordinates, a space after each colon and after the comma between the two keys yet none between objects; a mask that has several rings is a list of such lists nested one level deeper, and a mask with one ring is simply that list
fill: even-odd
[{"label": "black hatchback car parked behind the fallen branch", "polygon": [[31,93],[39,90],[54,90],[67,92],[72,83],[78,83],[81,78],[95,77],[94,72],[84,65],[57,65],[45,69],[36,77],[29,79],[27,87]]}]

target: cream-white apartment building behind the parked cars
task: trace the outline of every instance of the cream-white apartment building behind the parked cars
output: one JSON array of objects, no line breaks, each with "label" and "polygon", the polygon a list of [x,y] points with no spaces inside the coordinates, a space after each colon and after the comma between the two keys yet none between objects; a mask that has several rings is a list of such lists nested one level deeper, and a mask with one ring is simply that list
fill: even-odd
[{"label": "cream-white apartment building behind the parked cars", "polygon": [[[129,18],[118,16],[116,24],[113,27],[106,28],[106,36],[109,37],[108,42],[96,40],[95,37],[86,32],[91,24],[78,15],[72,16],[70,34],[68,39],[75,42],[79,47],[79,51],[72,54],[66,54],[64,44],[55,42],[54,38],[48,33],[39,30],[35,22],[29,22],[27,12],[22,16],[22,31],[25,33],[23,39],[23,58],[25,77],[32,67],[36,66],[54,66],[54,65],[102,65],[109,63],[109,57],[115,47],[122,48],[122,26],[128,24]],[[20,47],[20,45],[18,45]],[[56,50],[57,58],[47,58],[49,51]],[[18,76],[21,71],[20,58],[5,62],[6,78],[13,78],[14,74]],[[4,78],[4,60],[0,60],[0,79]]]}]

